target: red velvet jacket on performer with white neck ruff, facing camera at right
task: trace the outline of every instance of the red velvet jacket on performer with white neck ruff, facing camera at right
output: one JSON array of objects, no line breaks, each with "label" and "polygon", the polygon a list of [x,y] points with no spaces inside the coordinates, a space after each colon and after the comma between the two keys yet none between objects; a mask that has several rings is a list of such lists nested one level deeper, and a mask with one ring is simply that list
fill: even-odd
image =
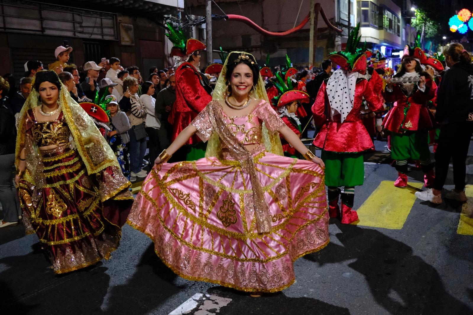
[{"label": "red velvet jacket on performer with white neck ruff, facing camera at right", "polygon": [[383,127],[386,130],[403,133],[408,130],[432,128],[427,102],[435,96],[437,85],[430,79],[426,80],[425,85],[424,92],[415,86],[411,96],[406,96],[403,89],[397,84],[394,84],[393,92],[385,91],[384,96],[387,102],[397,102],[383,121]]}]

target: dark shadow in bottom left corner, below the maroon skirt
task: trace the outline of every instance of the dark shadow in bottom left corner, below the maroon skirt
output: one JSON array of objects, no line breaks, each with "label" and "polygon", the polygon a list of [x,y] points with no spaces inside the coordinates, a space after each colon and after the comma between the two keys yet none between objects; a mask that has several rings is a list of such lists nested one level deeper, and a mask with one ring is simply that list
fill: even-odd
[{"label": "dark shadow in bottom left corner, below the maroon skirt", "polygon": [[[100,314],[110,276],[102,263],[55,276],[42,253],[0,259],[0,314]],[[21,280],[19,280],[21,279]],[[7,296],[3,296],[6,292]]]}]

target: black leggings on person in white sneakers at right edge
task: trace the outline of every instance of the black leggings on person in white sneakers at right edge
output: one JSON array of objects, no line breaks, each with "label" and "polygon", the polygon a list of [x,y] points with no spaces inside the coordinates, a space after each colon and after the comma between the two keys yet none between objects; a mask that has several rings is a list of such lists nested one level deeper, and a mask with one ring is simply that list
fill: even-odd
[{"label": "black leggings on person in white sneakers at right edge", "polygon": [[450,158],[453,162],[453,182],[455,189],[464,190],[466,176],[466,156],[473,133],[473,122],[457,122],[440,128],[438,147],[435,152],[434,189],[441,190],[447,179]]}]

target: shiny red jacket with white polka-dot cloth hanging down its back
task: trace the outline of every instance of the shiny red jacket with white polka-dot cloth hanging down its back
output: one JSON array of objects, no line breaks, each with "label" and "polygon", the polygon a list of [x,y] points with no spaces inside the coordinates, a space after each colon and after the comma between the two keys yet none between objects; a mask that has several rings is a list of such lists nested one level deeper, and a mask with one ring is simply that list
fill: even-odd
[{"label": "shiny red jacket with white polka-dot cloth hanging down its back", "polygon": [[365,79],[357,80],[353,108],[343,122],[340,122],[339,114],[335,115],[333,120],[325,115],[325,104],[330,107],[325,92],[326,86],[327,82],[324,81],[317,93],[315,103],[312,105],[315,125],[322,126],[315,137],[315,147],[338,153],[356,153],[373,149],[373,141],[359,118],[363,97],[373,112],[383,109],[383,102],[373,92],[371,85]]}]

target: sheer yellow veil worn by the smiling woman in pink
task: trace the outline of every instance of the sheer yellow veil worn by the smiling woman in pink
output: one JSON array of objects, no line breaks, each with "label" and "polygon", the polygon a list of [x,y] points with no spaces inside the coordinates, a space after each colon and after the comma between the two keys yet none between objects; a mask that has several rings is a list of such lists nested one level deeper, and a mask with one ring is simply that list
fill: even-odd
[{"label": "sheer yellow veil worn by the smiling woman in pink", "polygon": [[[227,88],[227,82],[226,82],[226,75],[227,75],[227,63],[228,63],[228,58],[232,54],[246,54],[248,56],[253,57],[254,56],[250,53],[245,53],[245,52],[231,52],[228,54],[227,59],[225,60],[225,63],[223,64],[223,69],[220,72],[219,79],[217,79],[217,84],[215,85],[215,89],[213,90],[212,94],[212,100],[213,101],[223,101],[225,100],[225,89]],[[258,73],[258,83],[255,86],[255,90],[253,93],[253,97],[256,99],[262,99],[265,100],[266,102],[269,103],[268,95],[266,94],[266,90],[264,89],[264,81],[261,75]],[[282,145],[281,145],[281,140],[279,137],[279,133],[275,132],[273,134],[270,134],[268,129],[264,126],[263,123],[263,143],[264,146],[266,147],[266,150],[268,150],[271,153],[277,154],[277,155],[284,155],[283,150],[282,150]],[[217,133],[213,133],[212,136],[209,139],[209,142],[207,144],[207,151],[205,152],[205,157],[220,157],[221,149],[220,149],[220,140],[219,136]]]}]

